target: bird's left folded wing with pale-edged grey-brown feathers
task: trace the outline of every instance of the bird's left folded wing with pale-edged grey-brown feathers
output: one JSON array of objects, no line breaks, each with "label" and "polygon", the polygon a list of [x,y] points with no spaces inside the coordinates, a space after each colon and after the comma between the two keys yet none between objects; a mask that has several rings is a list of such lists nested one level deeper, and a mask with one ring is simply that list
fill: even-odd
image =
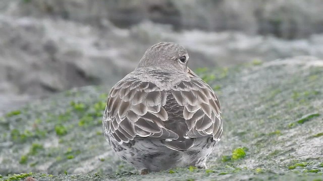
[{"label": "bird's left folded wing with pale-edged grey-brown feathers", "polygon": [[167,94],[154,83],[124,78],[111,90],[103,117],[104,135],[111,134],[120,144],[135,137],[178,139],[165,128],[168,114],[163,108]]}]

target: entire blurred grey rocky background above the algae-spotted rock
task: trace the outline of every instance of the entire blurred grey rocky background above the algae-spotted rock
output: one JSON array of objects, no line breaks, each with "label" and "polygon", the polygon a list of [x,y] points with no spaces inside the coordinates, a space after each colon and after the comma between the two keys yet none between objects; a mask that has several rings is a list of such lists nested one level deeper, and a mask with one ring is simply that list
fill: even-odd
[{"label": "entire blurred grey rocky background above the algae-spotted rock", "polygon": [[186,47],[192,69],[323,58],[322,10],[321,0],[0,0],[0,115],[113,85],[160,41]]}]

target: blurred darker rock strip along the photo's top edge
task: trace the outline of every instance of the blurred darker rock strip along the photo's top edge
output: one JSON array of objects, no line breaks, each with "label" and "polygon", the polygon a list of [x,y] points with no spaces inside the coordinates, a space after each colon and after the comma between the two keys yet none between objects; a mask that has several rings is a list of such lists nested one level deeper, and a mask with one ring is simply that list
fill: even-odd
[{"label": "blurred darker rock strip along the photo's top edge", "polygon": [[177,30],[236,30],[286,39],[323,32],[323,4],[320,0],[150,0],[144,3],[142,0],[131,3],[127,0],[13,0],[0,5],[0,9],[10,16],[50,16],[98,26],[107,19],[124,28],[150,20],[171,24]]}]

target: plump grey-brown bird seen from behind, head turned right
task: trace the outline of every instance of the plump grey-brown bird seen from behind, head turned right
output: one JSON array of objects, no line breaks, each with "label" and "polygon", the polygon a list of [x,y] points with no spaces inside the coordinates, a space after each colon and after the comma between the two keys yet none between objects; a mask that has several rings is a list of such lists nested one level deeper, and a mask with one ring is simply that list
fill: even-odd
[{"label": "plump grey-brown bird seen from behind, head turned right", "polygon": [[194,166],[220,141],[223,120],[212,88],[188,68],[187,50],[159,42],[111,89],[103,134],[140,174]]}]

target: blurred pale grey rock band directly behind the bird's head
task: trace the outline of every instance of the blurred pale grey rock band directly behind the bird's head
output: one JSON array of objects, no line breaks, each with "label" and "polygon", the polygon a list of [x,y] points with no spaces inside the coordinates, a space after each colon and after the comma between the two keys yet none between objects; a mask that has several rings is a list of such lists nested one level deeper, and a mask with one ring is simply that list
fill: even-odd
[{"label": "blurred pale grey rock band directly behind the bird's head", "polygon": [[130,30],[107,23],[107,32],[64,20],[3,17],[0,23],[0,90],[5,94],[43,96],[77,86],[113,84],[159,41],[185,46],[193,69],[296,55],[323,57],[321,35],[286,41],[238,32],[179,33],[151,22]]}]

